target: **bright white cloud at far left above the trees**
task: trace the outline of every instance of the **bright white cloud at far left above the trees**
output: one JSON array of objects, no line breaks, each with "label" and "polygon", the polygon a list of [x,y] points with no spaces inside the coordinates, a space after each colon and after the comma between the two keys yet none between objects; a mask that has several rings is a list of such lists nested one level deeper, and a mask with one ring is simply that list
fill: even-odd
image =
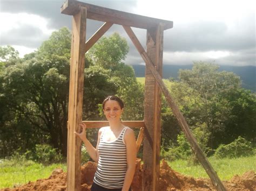
[{"label": "bright white cloud at far left above the trees", "polygon": [[0,45],[17,48],[21,56],[35,51],[42,41],[49,38],[49,20],[28,13],[0,13]]}]

